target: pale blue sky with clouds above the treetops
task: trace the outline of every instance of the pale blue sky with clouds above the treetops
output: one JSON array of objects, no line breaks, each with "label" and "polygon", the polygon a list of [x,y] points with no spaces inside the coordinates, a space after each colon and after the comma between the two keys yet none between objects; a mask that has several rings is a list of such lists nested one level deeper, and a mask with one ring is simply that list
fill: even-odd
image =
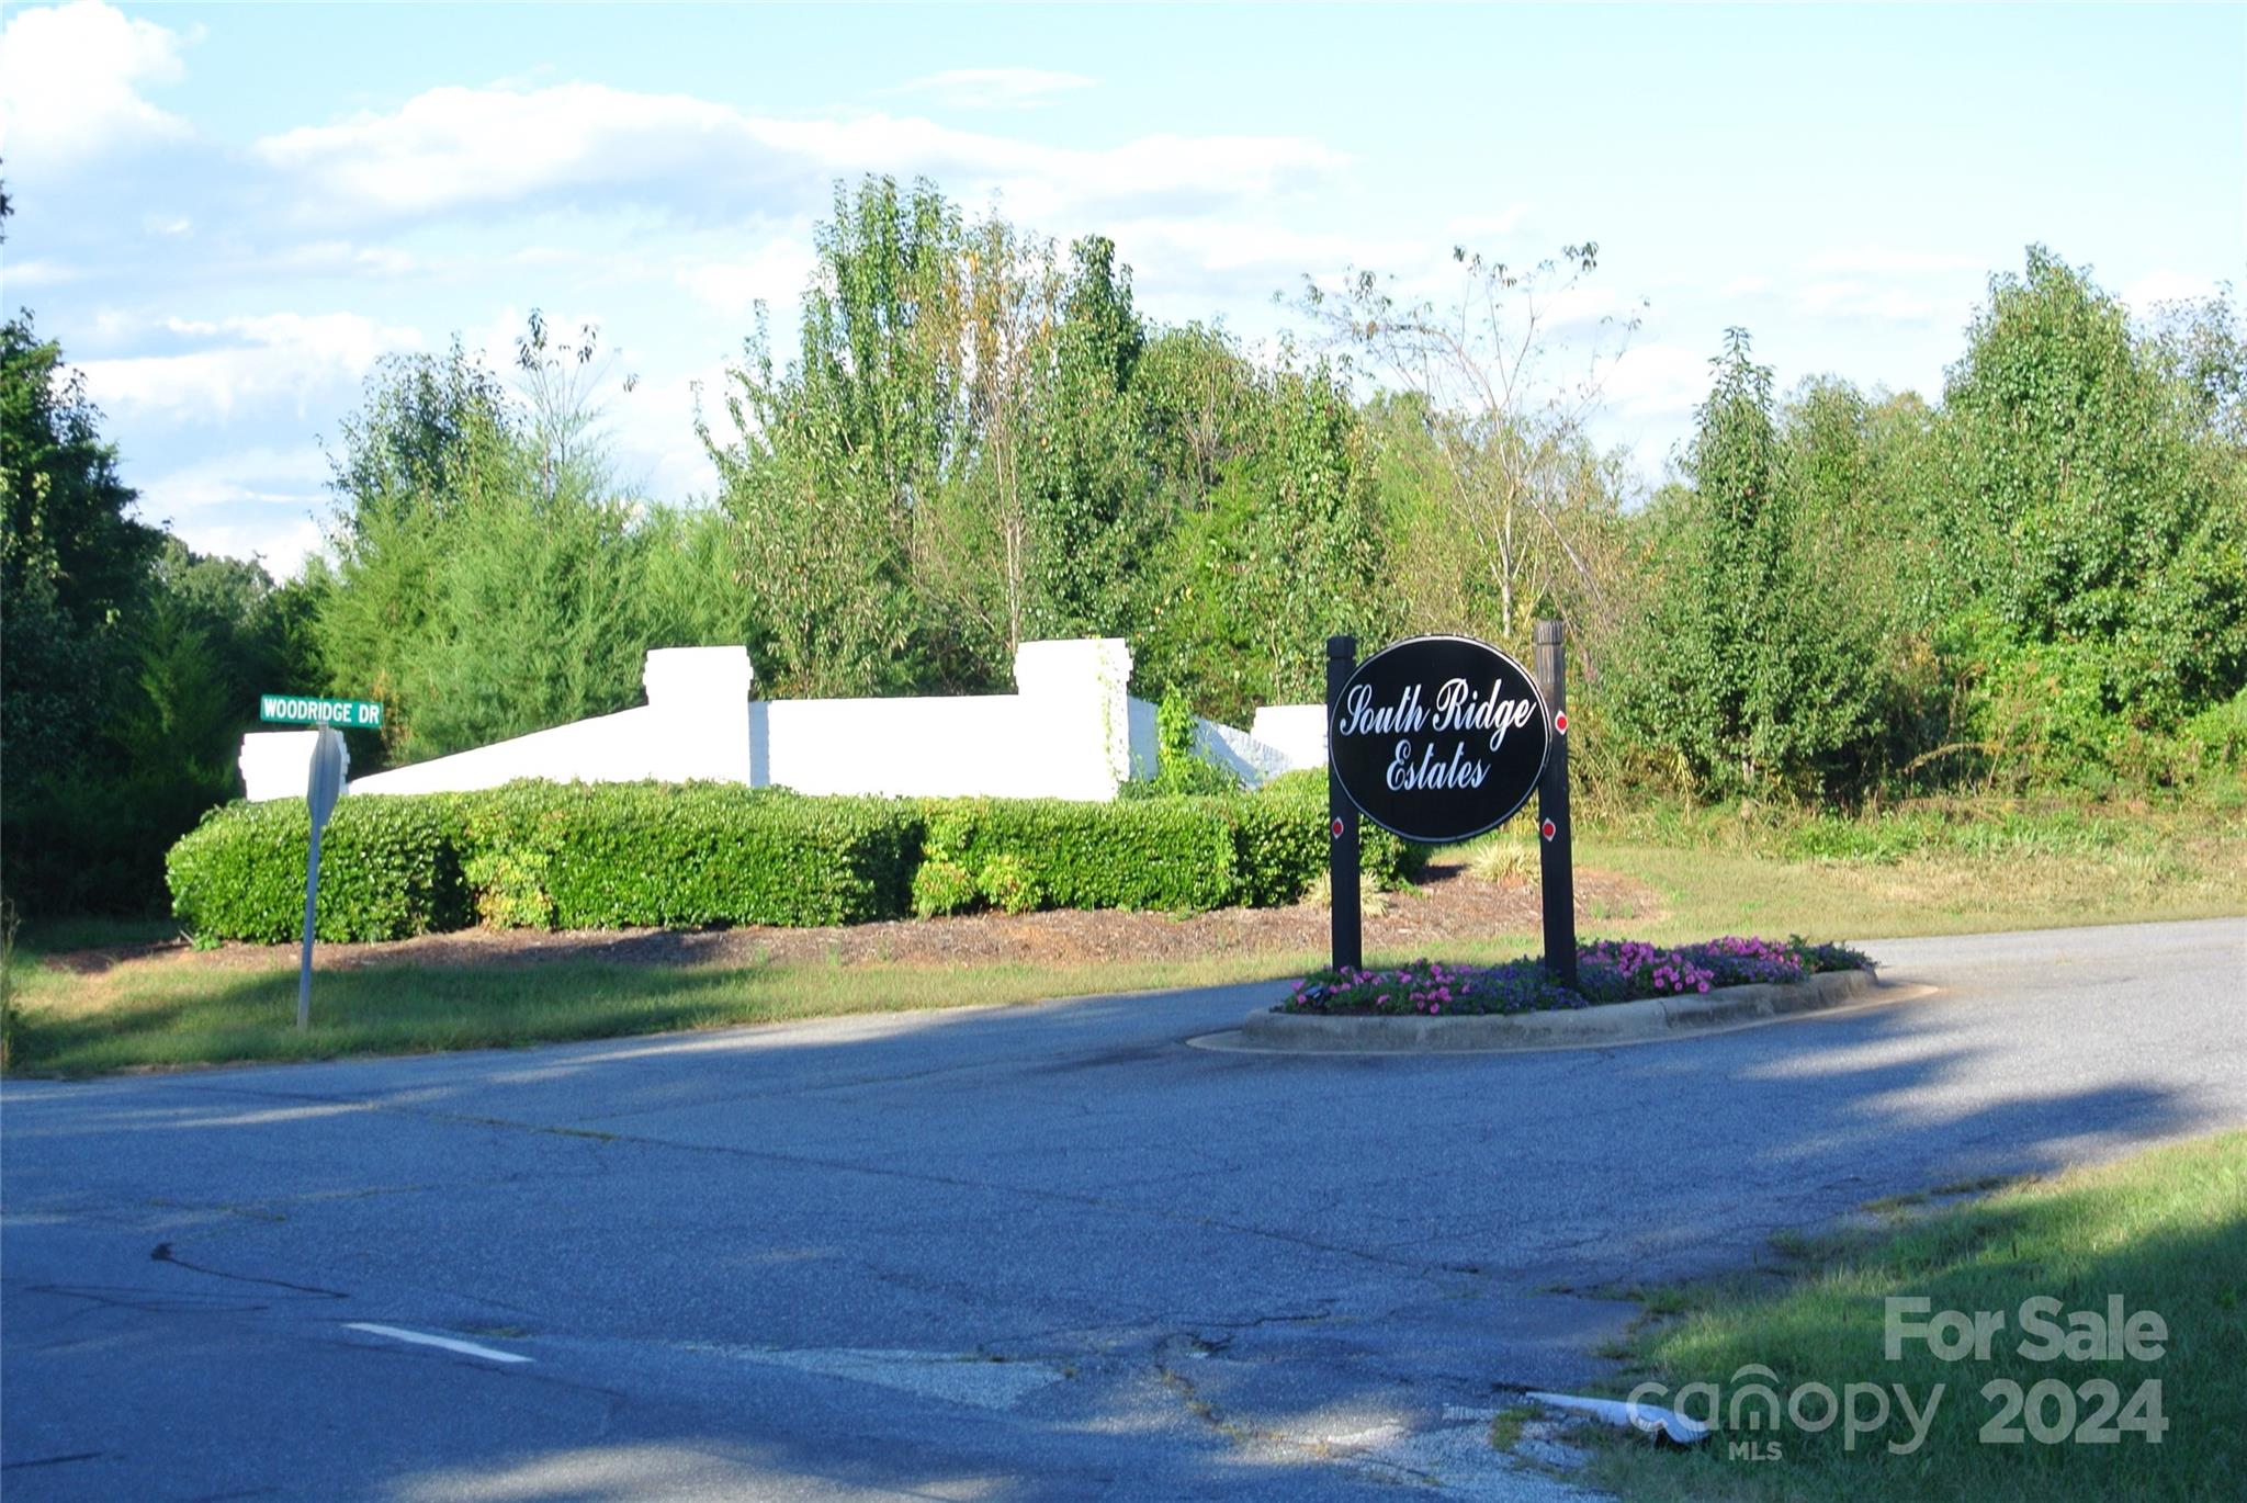
[{"label": "pale blue sky with clouds above the treetops", "polygon": [[2247,7],[11,4],[0,297],[85,371],[142,510],[276,573],[391,350],[503,368],[530,308],[618,353],[645,494],[809,272],[836,177],[1101,231],[1141,308],[1290,319],[1344,267],[1598,240],[1640,319],[1598,431],[1658,476],[1746,326],[1782,386],[1935,395],[2045,243],[2135,308],[2247,258]]}]

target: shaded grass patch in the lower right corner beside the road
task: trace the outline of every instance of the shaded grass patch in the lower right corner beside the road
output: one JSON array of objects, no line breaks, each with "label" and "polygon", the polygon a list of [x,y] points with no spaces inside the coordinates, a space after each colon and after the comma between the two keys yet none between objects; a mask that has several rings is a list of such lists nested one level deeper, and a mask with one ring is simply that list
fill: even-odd
[{"label": "shaded grass patch in the lower right corner beside the road", "polygon": [[[1878,1229],[1789,1238],[1775,1274],[1647,1292],[1647,1321],[1618,1352],[1629,1368],[1618,1395],[1656,1382],[1645,1402],[1705,1420],[1712,1395],[1685,1386],[1712,1384],[1719,1431],[1692,1451],[1600,1438],[1593,1481],[1625,1499],[2247,1496],[2247,1132],[1966,1204],[1892,1200],[1885,1211]],[[1928,1303],[1892,1314],[1892,1296]],[[2056,1305],[2022,1308],[2038,1296]],[[2092,1355],[2096,1332],[2076,1312],[2112,1326],[2114,1299],[2126,1328],[2137,1312],[2159,1317],[2157,1357],[2144,1317],[2135,1352],[2117,1332]],[[1910,1335],[1941,1312],[2002,1326],[1980,1346],[1950,1323],[1937,1341]],[[1903,1337],[1894,1357],[1892,1321]],[[2063,1332],[2049,1357],[2047,1323]],[[1959,1346],[1946,1350],[1953,1337]],[[1843,1418],[1813,1431],[1786,1409],[1777,1429],[1748,1429],[1768,1413],[1755,1384],[1789,1406],[1804,1395],[1800,1413],[1813,1422],[1825,1402],[1809,1386],[1822,1384]],[[1863,1393],[1852,1397],[1852,1384]],[[1852,1433],[1852,1404],[1865,1422],[1876,1413],[1874,1386],[1887,1418]],[[2009,1386],[2027,1397],[2011,1415]],[[1914,1411],[1935,1402],[1919,1445],[1899,1388]],[[2000,1438],[2009,1433],[2018,1440]]]}]

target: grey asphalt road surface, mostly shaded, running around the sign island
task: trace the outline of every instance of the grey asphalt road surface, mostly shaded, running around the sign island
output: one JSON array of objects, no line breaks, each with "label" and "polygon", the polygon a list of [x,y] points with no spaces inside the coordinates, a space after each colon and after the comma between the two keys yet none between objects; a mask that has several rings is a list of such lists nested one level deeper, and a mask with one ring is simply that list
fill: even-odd
[{"label": "grey asphalt road surface, mostly shaded, running around the sign island", "polygon": [[1941,991],[1512,1056],[1186,1047],[1238,986],[9,1083],[0,1487],[1568,1496],[1483,1418],[1598,1370],[1602,1292],[2247,1123],[2243,919],[1867,948]]}]

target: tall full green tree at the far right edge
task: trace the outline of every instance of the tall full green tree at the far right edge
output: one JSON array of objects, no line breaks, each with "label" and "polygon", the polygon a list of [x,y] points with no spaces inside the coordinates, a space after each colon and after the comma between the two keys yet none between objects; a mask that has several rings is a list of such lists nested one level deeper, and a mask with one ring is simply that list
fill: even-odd
[{"label": "tall full green tree at the far right edge", "polygon": [[1991,281],[1944,391],[1953,631],[1982,739],[2018,773],[2121,764],[2247,683],[2236,346],[2180,359],[2031,247]]}]

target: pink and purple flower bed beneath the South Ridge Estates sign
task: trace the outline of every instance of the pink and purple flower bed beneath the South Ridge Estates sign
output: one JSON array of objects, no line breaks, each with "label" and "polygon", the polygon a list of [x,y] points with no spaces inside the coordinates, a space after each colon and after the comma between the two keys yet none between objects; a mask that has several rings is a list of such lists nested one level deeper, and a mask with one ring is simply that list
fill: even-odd
[{"label": "pink and purple flower bed beneath the South Ridge Estates sign", "polygon": [[1820,971],[1870,971],[1872,962],[1843,944],[1809,944],[1800,935],[1661,948],[1636,939],[1577,946],[1573,989],[1539,959],[1503,966],[1445,966],[1416,959],[1395,971],[1314,971],[1297,982],[1279,1013],[1474,1015],[1537,1013],[1703,993],[1714,986],[1800,982]]}]

